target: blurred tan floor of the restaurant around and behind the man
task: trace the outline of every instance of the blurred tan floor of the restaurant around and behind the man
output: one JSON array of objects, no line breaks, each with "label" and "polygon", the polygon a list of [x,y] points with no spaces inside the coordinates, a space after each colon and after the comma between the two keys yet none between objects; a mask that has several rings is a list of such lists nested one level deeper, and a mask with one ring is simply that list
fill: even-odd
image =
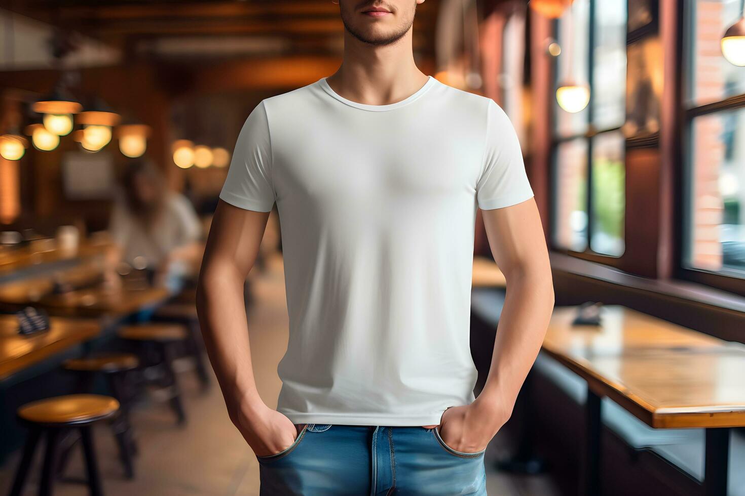
[{"label": "blurred tan floor of the restaurant around and behind the man", "polygon": [[[287,347],[288,317],[285,306],[282,259],[275,257],[267,270],[252,274],[256,304],[249,312],[253,363],[259,392],[267,405],[276,406],[281,385],[276,366]],[[187,364],[188,365],[188,364]],[[165,404],[137,405],[133,425],[140,445],[136,479],[126,480],[116,457],[115,444],[105,425],[95,430],[95,442],[104,490],[108,496],[252,496],[259,494],[259,466],[253,452],[230,423],[216,381],[200,393],[191,370],[180,372],[188,414],[187,425],[179,428]],[[514,477],[493,470],[501,456],[499,435],[486,451],[490,496],[552,496],[558,492],[545,477]],[[7,494],[19,455],[0,467],[0,494]],[[37,460],[26,488],[36,494],[41,460]],[[82,457],[75,451],[66,479],[54,487],[57,496],[85,495]]]}]

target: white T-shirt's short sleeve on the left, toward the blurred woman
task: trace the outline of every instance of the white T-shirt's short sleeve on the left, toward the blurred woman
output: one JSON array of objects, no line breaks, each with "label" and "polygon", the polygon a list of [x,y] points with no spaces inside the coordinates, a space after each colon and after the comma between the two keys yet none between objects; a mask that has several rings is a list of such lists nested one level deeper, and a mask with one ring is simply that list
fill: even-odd
[{"label": "white T-shirt's short sleeve on the left, toward the blurred woman", "polygon": [[272,210],[276,194],[264,100],[251,111],[241,128],[220,199],[246,210]]}]

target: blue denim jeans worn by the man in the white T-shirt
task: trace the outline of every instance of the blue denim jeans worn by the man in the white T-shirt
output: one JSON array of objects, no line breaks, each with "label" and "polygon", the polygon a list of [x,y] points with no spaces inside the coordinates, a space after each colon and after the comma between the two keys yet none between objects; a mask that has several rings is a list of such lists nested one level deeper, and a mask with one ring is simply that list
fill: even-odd
[{"label": "blue denim jeans worn by the man in the white T-shirt", "polygon": [[288,448],[256,457],[261,496],[486,496],[484,452],[437,428],[305,424]]}]

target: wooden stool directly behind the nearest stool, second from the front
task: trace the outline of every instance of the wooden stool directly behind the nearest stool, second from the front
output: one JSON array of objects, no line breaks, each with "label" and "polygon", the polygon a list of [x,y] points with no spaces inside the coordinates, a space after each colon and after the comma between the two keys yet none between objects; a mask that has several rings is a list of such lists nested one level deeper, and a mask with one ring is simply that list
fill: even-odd
[{"label": "wooden stool directly behind the nearest stool, second from the front", "polygon": [[[102,353],[85,358],[72,358],[63,363],[66,370],[80,376],[80,393],[88,393],[92,389],[92,380],[95,373],[102,373],[106,377],[109,388],[120,405],[120,413],[112,420],[111,427],[119,447],[119,457],[124,466],[124,473],[129,479],[134,477],[132,457],[137,453],[137,445],[130,423],[132,393],[127,373],[135,370],[138,366],[139,360],[136,355],[131,353]],[[72,441],[63,443],[66,446],[63,448],[63,454],[60,457],[60,474],[64,471],[69,452],[76,441],[77,438],[74,438]]]}]

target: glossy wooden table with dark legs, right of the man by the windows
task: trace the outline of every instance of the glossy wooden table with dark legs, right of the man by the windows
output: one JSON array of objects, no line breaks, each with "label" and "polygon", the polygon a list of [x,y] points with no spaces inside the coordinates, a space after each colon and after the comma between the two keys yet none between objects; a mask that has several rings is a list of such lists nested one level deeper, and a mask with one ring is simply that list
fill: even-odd
[{"label": "glossy wooden table with dark legs, right of the man by the windows", "polygon": [[653,428],[706,429],[706,495],[726,495],[729,428],[745,427],[745,346],[603,306],[600,326],[572,326],[557,307],[542,349],[588,384],[584,494],[600,494],[600,399]]}]

